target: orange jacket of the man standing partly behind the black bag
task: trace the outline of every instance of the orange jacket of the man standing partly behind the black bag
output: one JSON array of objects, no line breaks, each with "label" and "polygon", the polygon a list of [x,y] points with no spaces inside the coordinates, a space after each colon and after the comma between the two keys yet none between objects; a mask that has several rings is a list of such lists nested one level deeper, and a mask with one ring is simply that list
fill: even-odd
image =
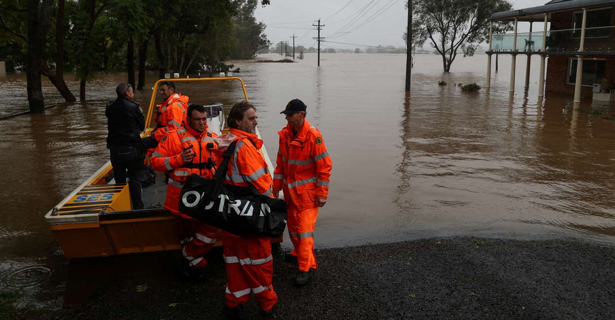
[{"label": "orange jacket of the man standing partly behind the black bag", "polygon": [[[213,178],[216,165],[216,155],[213,151],[218,148],[218,144],[213,140],[215,137],[215,133],[207,130],[198,133],[189,126],[180,127],[178,130],[170,131],[156,147],[151,165],[156,171],[169,172],[164,208],[169,209],[171,213],[188,217],[179,213],[178,208],[181,187],[190,174],[196,173],[205,178]],[[184,163],[181,152],[188,147],[192,147],[194,158],[191,163]]]}]

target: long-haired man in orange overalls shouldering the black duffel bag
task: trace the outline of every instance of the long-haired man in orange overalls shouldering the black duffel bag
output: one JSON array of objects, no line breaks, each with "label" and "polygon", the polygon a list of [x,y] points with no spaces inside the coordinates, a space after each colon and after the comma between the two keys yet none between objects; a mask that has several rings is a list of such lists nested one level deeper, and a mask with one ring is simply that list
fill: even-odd
[{"label": "long-haired man in orange overalls shouldering the black duffel bag", "polygon": [[[231,185],[248,187],[261,195],[271,195],[271,174],[263,155],[259,152],[263,140],[256,135],[256,108],[243,101],[236,103],[229,112],[229,133],[216,138],[222,155],[233,142],[235,150],[229,160],[226,181]],[[229,232],[222,233],[224,265],[226,266],[226,307],[230,318],[245,319],[244,303],[254,294],[261,314],[270,316],[277,302],[273,290],[273,256],[269,237],[241,238]]]}]

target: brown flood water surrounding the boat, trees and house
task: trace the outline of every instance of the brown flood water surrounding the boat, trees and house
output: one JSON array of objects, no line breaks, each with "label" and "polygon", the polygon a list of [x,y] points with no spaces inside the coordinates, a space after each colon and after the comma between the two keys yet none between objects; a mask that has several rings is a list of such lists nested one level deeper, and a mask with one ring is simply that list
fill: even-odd
[{"label": "brown flood water surrounding the boat, trees and house", "polygon": [[[485,55],[458,57],[450,74],[442,74],[440,57],[418,55],[411,95],[403,55],[321,57],[320,68],[315,54],[298,63],[234,61],[269,155],[285,125],[279,112],[293,98],[308,104],[307,119],[322,132],[333,171],[318,247],[451,235],[615,242],[615,122],[600,115],[614,108],[587,99],[574,107],[571,96],[549,93],[538,101],[538,58],[524,92],[525,57],[518,56],[511,96],[506,55],[489,93],[454,85],[484,87]],[[148,74],[148,90],[135,93],[144,109],[155,77]],[[69,265],[44,215],[108,160],[104,108],[121,81],[125,74],[101,73],[87,86],[87,104],[0,120],[0,291],[22,292],[19,306],[62,306]],[[0,85],[0,115],[26,106],[25,74],[0,77]],[[44,85],[47,104],[62,101]],[[77,82],[69,87],[78,95]],[[202,104],[232,104],[242,98],[237,90],[178,85]]]}]

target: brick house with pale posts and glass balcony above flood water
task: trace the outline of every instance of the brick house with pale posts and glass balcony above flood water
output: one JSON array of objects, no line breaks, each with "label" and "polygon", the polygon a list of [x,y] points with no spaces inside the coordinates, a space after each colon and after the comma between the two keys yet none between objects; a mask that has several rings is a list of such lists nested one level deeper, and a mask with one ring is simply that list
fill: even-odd
[{"label": "brick house with pale posts and glass balcony above flood water", "polygon": [[[511,93],[515,91],[517,55],[528,55],[525,87],[529,84],[531,58],[538,55],[539,98],[546,91],[574,93],[574,103],[580,103],[581,96],[615,100],[615,0],[553,0],[544,6],[497,12],[489,20],[492,24],[514,22],[514,33],[493,34],[490,28],[486,87],[491,86],[493,54],[511,55]],[[529,33],[517,33],[520,22],[530,23]],[[533,32],[533,22],[544,22],[544,29]]]}]

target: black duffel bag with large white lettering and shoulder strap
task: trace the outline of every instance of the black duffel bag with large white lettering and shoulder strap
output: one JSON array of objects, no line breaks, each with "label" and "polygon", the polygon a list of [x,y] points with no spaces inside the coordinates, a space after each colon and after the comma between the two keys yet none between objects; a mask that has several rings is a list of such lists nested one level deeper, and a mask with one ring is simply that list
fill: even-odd
[{"label": "black duffel bag with large white lettering and shoulder strap", "polygon": [[236,142],[224,152],[213,179],[191,174],[181,188],[180,212],[239,236],[277,238],[286,228],[284,200],[256,194],[251,188],[224,184]]}]

